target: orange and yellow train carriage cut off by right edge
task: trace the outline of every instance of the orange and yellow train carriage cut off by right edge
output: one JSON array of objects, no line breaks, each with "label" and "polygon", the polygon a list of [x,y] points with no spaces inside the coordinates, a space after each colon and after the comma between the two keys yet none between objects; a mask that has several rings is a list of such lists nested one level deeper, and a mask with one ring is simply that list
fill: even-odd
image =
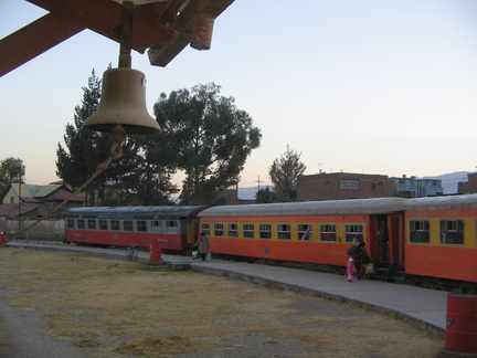
[{"label": "orange and yellow train carriage cut off by right edge", "polygon": [[477,196],[407,200],[405,272],[477,283]]}]

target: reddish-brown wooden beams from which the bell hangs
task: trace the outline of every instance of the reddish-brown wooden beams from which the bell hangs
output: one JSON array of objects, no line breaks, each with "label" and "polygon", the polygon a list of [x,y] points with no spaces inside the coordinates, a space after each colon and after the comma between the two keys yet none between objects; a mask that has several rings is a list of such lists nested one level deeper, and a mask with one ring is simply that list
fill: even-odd
[{"label": "reddish-brown wooden beams from which the bell hangs", "polygon": [[[89,29],[166,66],[192,39],[198,14],[219,17],[234,0],[26,0],[47,14],[0,40],[0,76]],[[125,8],[129,6],[125,31]],[[127,15],[127,14],[126,14]],[[130,25],[129,25],[130,24]]]}]

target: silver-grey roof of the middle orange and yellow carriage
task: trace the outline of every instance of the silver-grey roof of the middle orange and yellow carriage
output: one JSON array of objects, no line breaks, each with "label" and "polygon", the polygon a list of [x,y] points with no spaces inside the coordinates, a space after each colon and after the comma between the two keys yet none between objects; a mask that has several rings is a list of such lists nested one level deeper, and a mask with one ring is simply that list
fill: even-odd
[{"label": "silver-grey roof of the middle orange and yellow carriage", "polygon": [[205,209],[199,217],[381,214],[403,211],[406,201],[403,198],[377,198],[224,206]]}]

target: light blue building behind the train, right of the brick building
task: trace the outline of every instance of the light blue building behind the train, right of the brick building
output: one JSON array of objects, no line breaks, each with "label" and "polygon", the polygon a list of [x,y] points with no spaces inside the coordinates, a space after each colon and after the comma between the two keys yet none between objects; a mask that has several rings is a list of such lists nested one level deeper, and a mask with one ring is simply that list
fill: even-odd
[{"label": "light blue building behind the train, right of the brick building", "polygon": [[444,194],[442,180],[417,179],[416,177],[392,178],[395,186],[395,194],[403,198],[436,197]]}]

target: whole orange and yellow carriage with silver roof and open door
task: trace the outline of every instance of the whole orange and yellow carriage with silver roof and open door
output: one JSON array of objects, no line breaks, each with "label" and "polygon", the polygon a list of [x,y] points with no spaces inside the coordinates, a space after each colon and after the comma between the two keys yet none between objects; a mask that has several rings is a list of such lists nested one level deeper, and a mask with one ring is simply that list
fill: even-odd
[{"label": "whole orange and yellow carriage with silver roof and open door", "polygon": [[380,227],[388,228],[391,259],[403,259],[405,202],[381,198],[227,206],[209,208],[199,217],[213,253],[342,266],[347,250],[360,241],[367,242],[373,261],[380,260]]}]

